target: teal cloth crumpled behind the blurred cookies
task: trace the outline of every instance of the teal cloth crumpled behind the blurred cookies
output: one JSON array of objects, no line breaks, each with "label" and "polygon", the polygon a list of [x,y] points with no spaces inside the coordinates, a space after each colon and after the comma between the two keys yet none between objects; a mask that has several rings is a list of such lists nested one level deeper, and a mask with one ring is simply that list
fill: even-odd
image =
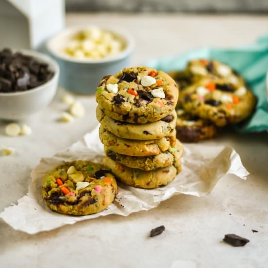
[{"label": "teal cloth crumpled behind the blurred cookies", "polygon": [[230,65],[245,78],[248,87],[258,98],[254,115],[242,126],[240,132],[262,132],[268,130],[268,101],[266,97],[266,76],[268,72],[268,35],[255,43],[231,49],[199,48],[173,57],[154,59],[146,66],[164,72],[182,70],[194,58],[217,59]]}]

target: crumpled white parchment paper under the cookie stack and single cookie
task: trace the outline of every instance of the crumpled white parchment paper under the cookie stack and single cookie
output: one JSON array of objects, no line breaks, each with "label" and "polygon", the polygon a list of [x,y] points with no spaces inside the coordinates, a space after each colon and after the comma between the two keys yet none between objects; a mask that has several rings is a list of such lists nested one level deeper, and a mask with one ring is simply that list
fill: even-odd
[{"label": "crumpled white parchment paper under the cookie stack and single cookie", "polygon": [[15,230],[34,234],[109,214],[128,216],[136,211],[147,211],[175,194],[200,197],[209,194],[226,174],[234,174],[241,179],[246,179],[249,174],[239,155],[230,147],[184,144],[182,171],[165,187],[143,190],[119,183],[115,202],[106,210],[87,216],[62,215],[45,206],[41,197],[41,181],[47,171],[62,161],[80,159],[101,162],[103,156],[103,145],[96,128],[65,151],[53,157],[42,158],[31,173],[32,183],[27,195],[18,200],[18,205],[12,205],[1,212],[0,218]]}]

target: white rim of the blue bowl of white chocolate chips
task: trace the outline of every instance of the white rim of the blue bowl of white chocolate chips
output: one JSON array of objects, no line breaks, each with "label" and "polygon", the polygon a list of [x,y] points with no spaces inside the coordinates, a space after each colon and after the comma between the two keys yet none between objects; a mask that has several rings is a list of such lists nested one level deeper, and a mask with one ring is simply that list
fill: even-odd
[{"label": "white rim of the blue bowl of white chocolate chips", "polygon": [[[100,59],[90,59],[90,58],[83,58],[83,59],[78,59],[75,57],[69,57],[68,55],[65,54],[61,54],[57,51],[57,49],[53,48],[52,43],[57,42],[57,39],[62,38],[68,34],[72,34],[72,33],[76,33],[77,31],[81,31],[81,30],[86,30],[90,27],[97,27],[101,30],[104,31],[108,31],[111,33],[115,33],[116,35],[124,38],[126,40],[126,47],[124,48],[124,50],[122,50],[120,53],[118,53],[115,56],[111,56],[111,57],[104,57],[104,58],[100,58]],[[46,48],[47,50],[55,57],[59,58],[59,59],[63,59],[65,61],[69,61],[69,62],[75,62],[75,63],[82,63],[82,64],[95,64],[95,63],[107,63],[107,62],[113,62],[113,61],[117,61],[120,60],[122,58],[127,57],[129,54],[131,54],[134,50],[134,38],[129,35],[128,33],[126,33],[124,30],[121,29],[114,29],[113,27],[100,27],[100,26],[96,26],[96,25],[87,25],[87,26],[71,26],[68,28],[65,28],[63,31],[57,33],[56,35],[54,35],[52,38],[49,38],[46,42]]]}]

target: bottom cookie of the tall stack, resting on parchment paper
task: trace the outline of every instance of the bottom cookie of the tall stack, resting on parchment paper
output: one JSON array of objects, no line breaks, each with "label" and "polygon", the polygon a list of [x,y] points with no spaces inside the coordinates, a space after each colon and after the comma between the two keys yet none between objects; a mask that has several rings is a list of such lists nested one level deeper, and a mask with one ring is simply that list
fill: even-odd
[{"label": "bottom cookie of the tall stack, resting on parchment paper", "polygon": [[115,174],[121,182],[142,189],[153,189],[165,186],[172,182],[176,174],[181,171],[181,160],[178,159],[173,166],[159,168],[153,171],[132,169],[116,163],[106,156],[102,161],[103,165]]}]

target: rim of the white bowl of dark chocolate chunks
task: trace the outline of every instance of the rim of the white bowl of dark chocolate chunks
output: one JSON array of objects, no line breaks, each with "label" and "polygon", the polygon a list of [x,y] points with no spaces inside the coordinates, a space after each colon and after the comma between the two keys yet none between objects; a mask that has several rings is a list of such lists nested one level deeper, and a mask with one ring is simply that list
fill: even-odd
[{"label": "rim of the white bowl of dark chocolate chunks", "polygon": [[28,56],[32,56],[35,57],[36,59],[40,60],[40,61],[44,61],[45,63],[47,63],[48,65],[52,66],[53,71],[54,71],[54,75],[53,77],[51,77],[48,81],[46,81],[44,84],[41,84],[38,87],[35,87],[33,89],[29,89],[29,90],[25,90],[25,91],[17,91],[17,92],[6,92],[6,93],[1,93],[0,92],[0,97],[2,96],[19,96],[19,95],[26,95],[26,94],[31,94],[33,92],[37,92],[41,89],[43,89],[44,87],[46,87],[49,83],[51,83],[53,80],[57,79],[58,75],[59,75],[59,66],[57,64],[57,61],[54,60],[53,58],[49,57],[48,55],[45,55],[43,53],[40,53],[38,51],[34,51],[34,50],[28,50],[28,49],[11,49],[11,51],[14,52],[21,52],[23,55],[28,55]]}]

